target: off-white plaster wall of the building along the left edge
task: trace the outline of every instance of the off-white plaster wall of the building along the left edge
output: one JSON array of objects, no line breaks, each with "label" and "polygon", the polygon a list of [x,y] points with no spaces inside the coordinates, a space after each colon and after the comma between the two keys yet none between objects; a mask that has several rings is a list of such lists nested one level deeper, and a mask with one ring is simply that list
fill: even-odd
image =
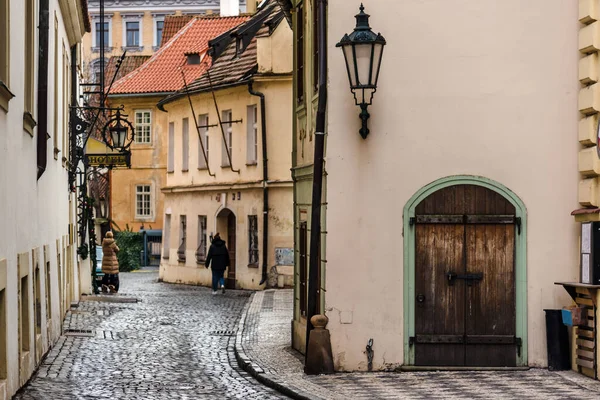
[{"label": "off-white plaster wall of the building along the left edge", "polygon": [[[36,2],[36,24],[38,15],[38,2]],[[6,334],[7,343],[7,380],[5,383],[0,381],[0,387],[5,385],[5,390],[0,390],[0,397],[5,395],[10,398],[19,386],[23,384],[33,372],[33,368],[39,360],[36,360],[34,351],[35,342],[35,325],[34,325],[34,308],[33,308],[33,267],[32,267],[32,252],[34,249],[39,249],[40,255],[40,298],[46,298],[45,284],[45,262],[44,262],[44,246],[47,245],[48,261],[50,261],[51,269],[51,292],[52,292],[52,314],[53,319],[49,323],[48,331],[45,329],[46,310],[45,302],[42,300],[42,353],[45,353],[49,345],[56,341],[60,335],[62,315],[60,314],[59,305],[59,282],[57,270],[57,254],[56,240],[68,235],[70,212],[75,211],[75,198],[68,192],[67,185],[67,170],[62,165],[62,160],[55,160],[53,156],[53,139],[48,140],[48,163],[47,169],[40,180],[37,180],[37,162],[36,162],[36,140],[38,130],[34,130],[34,137],[31,137],[23,130],[23,98],[24,98],[24,29],[23,24],[18,21],[24,20],[25,2],[11,1],[10,2],[10,77],[8,87],[15,94],[9,102],[9,111],[6,113],[0,110],[0,221],[2,221],[3,229],[0,230],[0,259],[7,260],[6,270],[6,332],[0,332],[0,335]],[[54,135],[54,10],[56,10],[59,18],[59,84],[58,89],[62,93],[62,42],[66,43],[67,48],[70,46],[66,31],[62,23],[62,17],[58,1],[50,2],[50,43],[49,43],[49,71],[48,71],[48,133]],[[35,33],[36,48],[38,41],[38,33]],[[36,68],[34,87],[37,88],[37,57],[38,52],[35,52]],[[69,54],[70,56],[70,54]],[[68,94],[67,94],[68,95]],[[59,95],[60,99],[60,95]],[[34,118],[37,119],[37,98],[34,99]],[[62,109],[58,110],[58,115],[61,117],[59,128],[62,127]],[[63,132],[58,132],[62,135]],[[65,132],[66,134],[66,132]],[[60,136],[59,143],[62,143]],[[62,158],[62,154],[60,154]],[[73,202],[69,202],[69,199]],[[71,216],[74,218],[74,215]],[[29,258],[29,282],[27,288],[30,298],[30,352],[29,358],[25,360],[24,371],[19,376],[19,345],[18,345],[18,329],[19,329],[19,307],[18,307],[18,268],[17,254],[28,253]],[[78,272],[76,268],[76,255],[73,251],[71,257],[74,265],[73,272],[73,292],[75,294],[73,300],[78,299],[79,285]],[[63,275],[64,276],[64,275]],[[4,351],[4,350],[2,350]],[[2,393],[5,392],[5,393]]]}]

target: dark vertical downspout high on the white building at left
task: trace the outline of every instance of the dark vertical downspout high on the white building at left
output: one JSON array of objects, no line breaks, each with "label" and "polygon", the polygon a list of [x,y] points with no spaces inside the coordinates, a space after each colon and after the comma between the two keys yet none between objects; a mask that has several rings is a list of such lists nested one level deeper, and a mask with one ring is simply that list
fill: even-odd
[{"label": "dark vertical downspout high on the white building at left", "polygon": [[37,179],[42,177],[46,171],[46,165],[48,163],[48,37],[50,36],[49,0],[40,0],[39,18]]}]

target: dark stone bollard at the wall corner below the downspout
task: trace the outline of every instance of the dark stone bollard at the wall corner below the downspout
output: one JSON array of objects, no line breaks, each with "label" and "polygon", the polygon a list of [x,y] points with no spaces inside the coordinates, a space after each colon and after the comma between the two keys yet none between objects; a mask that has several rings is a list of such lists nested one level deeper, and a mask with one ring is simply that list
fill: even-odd
[{"label": "dark stone bollard at the wall corner below the downspout", "polygon": [[314,315],[310,322],[314,329],[308,339],[308,355],[304,373],[307,375],[333,374],[333,356],[329,331],[325,329],[329,318],[325,315]]}]

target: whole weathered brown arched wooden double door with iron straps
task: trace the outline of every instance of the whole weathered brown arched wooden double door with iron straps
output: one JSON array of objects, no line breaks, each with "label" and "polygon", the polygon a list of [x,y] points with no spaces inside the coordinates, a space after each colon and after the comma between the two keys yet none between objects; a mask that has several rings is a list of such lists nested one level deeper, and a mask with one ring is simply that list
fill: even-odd
[{"label": "whole weathered brown arched wooden double door with iron straps", "polygon": [[425,198],[415,226],[415,364],[516,366],[515,234],[500,194],[456,185]]}]

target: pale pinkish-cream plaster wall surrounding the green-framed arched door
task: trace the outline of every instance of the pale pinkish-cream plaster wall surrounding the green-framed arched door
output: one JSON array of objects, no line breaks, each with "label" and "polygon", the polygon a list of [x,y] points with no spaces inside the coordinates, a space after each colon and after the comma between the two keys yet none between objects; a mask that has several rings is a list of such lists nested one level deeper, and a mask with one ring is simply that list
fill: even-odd
[{"label": "pale pinkish-cream plaster wall surrounding the green-framed arched door", "polygon": [[[360,2],[329,1],[327,314],[341,370],[403,363],[402,209],[424,185],[493,179],[528,210],[529,364],[544,366],[544,308],[578,279],[577,2],[365,1],[388,44],[360,138],[335,43]],[[353,249],[353,250],[349,250]],[[352,313],[351,324],[340,313]]]}]

